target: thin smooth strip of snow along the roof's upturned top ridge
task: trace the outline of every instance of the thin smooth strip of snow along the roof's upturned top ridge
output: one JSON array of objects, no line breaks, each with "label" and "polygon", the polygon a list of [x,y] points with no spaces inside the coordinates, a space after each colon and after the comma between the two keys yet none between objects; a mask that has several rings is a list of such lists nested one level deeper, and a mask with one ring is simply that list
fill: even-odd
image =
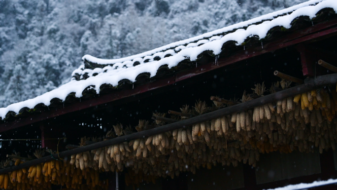
[{"label": "thin smooth strip of snow along the roof's upturned top ridge", "polygon": [[167,49],[175,48],[179,45],[189,44],[191,42],[195,42],[195,41],[198,41],[200,39],[210,38],[212,36],[216,36],[216,35],[219,35],[219,34],[222,34],[222,33],[226,33],[226,32],[229,32],[229,31],[232,31],[232,30],[235,30],[235,29],[248,27],[249,25],[252,25],[252,24],[258,23],[258,22],[262,22],[264,20],[271,20],[271,19],[274,19],[274,17],[276,17],[278,15],[283,15],[283,14],[292,12],[296,9],[299,9],[301,7],[312,5],[312,4],[321,2],[321,1],[322,0],[308,0],[306,2],[300,3],[300,4],[295,5],[295,6],[291,6],[291,7],[279,10],[279,11],[275,11],[275,12],[272,12],[272,13],[269,13],[269,14],[266,14],[266,15],[262,15],[260,17],[256,17],[256,18],[253,18],[253,19],[250,19],[250,20],[247,20],[247,21],[244,21],[244,22],[240,22],[240,23],[228,26],[228,27],[224,27],[222,29],[218,29],[218,30],[215,30],[215,31],[212,31],[212,32],[204,33],[204,34],[202,34],[200,36],[197,36],[197,37],[188,38],[188,39],[176,41],[176,42],[173,42],[173,43],[169,43],[168,45],[164,45],[162,47],[158,47],[158,48],[152,49],[150,51],[146,51],[146,52],[139,53],[139,54],[136,54],[136,55],[132,55],[132,56],[129,56],[129,57],[124,57],[124,58],[120,58],[120,59],[100,59],[100,58],[96,58],[96,57],[91,56],[91,55],[84,55],[82,57],[82,60],[86,59],[86,60],[88,60],[92,63],[103,64],[103,65],[133,60],[133,59],[138,58],[138,57],[153,55],[153,54],[155,54],[157,52],[160,52],[160,51],[165,51]]}]

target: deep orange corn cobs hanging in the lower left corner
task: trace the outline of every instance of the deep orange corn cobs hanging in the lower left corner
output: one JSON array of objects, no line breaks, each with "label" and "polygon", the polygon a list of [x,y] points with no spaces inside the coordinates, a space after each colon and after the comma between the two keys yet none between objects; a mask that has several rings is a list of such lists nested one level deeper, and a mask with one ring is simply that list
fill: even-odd
[{"label": "deep orange corn cobs hanging in the lower left corner", "polygon": [[[36,158],[43,155],[43,151],[34,152]],[[3,161],[0,166],[7,167],[9,160]],[[86,184],[82,184],[82,181]],[[99,171],[89,167],[81,170],[71,165],[69,161],[53,160],[43,164],[31,166],[0,175],[0,188],[5,190],[45,190],[52,185],[65,186],[72,190],[103,190],[108,188],[108,181],[99,180]]]}]

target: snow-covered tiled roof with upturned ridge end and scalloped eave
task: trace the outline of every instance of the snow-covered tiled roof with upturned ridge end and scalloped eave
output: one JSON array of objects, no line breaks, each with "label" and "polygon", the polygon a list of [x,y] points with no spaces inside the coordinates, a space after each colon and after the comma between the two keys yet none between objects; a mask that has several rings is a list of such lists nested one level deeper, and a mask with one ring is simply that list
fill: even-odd
[{"label": "snow-covered tiled roof with upturned ridge end and scalloped eave", "polygon": [[[18,116],[24,111],[34,112],[37,106],[51,106],[53,100],[65,102],[70,96],[83,98],[88,90],[100,93],[105,87],[119,88],[121,81],[133,83],[141,75],[158,76],[159,69],[163,67],[177,71],[181,64],[187,63],[189,66],[196,64],[203,55],[218,57],[225,54],[226,45],[243,46],[251,39],[268,41],[275,31],[293,30],[296,22],[303,21],[299,18],[305,17],[310,22],[316,22],[315,19],[319,18],[324,10],[335,14],[337,0],[309,0],[198,37],[177,41],[121,59],[107,60],[85,55],[82,59],[86,64],[72,73],[70,82],[36,98],[0,108],[0,117],[6,119],[9,115]],[[294,30],[297,29],[295,27]]]}]

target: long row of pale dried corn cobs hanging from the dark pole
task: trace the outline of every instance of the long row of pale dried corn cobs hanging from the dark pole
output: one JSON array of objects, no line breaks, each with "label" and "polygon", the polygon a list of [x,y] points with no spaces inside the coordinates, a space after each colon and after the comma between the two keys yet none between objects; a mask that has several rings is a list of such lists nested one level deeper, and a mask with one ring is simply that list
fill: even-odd
[{"label": "long row of pale dried corn cobs hanging from the dark pole", "polygon": [[[281,86],[282,89],[286,89],[290,85],[291,82],[282,80],[273,84],[269,91],[274,93],[275,88],[279,89],[279,86]],[[337,92],[329,89],[329,86],[320,88],[172,132],[76,154],[71,156],[69,163],[60,162],[62,164],[58,163],[59,166],[55,166],[56,162],[51,161],[43,165],[42,175],[47,177],[47,181],[49,179],[52,183],[60,182],[58,184],[62,184],[64,182],[62,179],[53,178],[53,176],[58,175],[58,170],[54,168],[72,168],[73,172],[70,172],[72,181],[67,185],[67,179],[70,180],[70,177],[65,175],[64,184],[67,187],[76,188],[80,185],[81,180],[79,179],[87,179],[86,172],[89,172],[90,175],[92,172],[98,175],[99,172],[122,171],[125,166],[128,168],[130,175],[126,178],[127,184],[135,185],[130,181],[141,182],[145,179],[144,176],[151,176],[151,179],[150,177],[146,178],[146,181],[152,181],[154,178],[161,176],[173,178],[178,176],[180,172],[195,173],[196,169],[200,167],[210,169],[212,165],[216,164],[233,164],[236,166],[238,162],[242,161],[255,166],[259,161],[260,153],[265,152],[288,153],[294,150],[313,152],[313,147],[318,147],[320,152],[328,150],[330,147],[335,150]],[[244,91],[240,102],[235,100],[235,103],[239,104],[261,97],[265,92],[264,83],[257,84],[253,88],[253,94],[246,94]],[[220,100],[219,98],[216,99]],[[212,107],[207,107],[205,102],[197,101],[193,109],[189,109],[190,107],[185,105],[180,110],[184,115],[196,115],[226,106],[222,102],[214,101],[213,103]],[[145,120],[139,120],[135,129],[142,131],[165,124],[165,118],[163,119],[163,117],[166,114],[154,113],[154,115],[161,120],[155,120],[153,124],[149,124]],[[180,115],[172,118],[182,120],[186,117]],[[113,128],[117,136],[133,133],[133,127],[131,126],[123,130],[122,124],[117,124]],[[113,138],[114,136],[112,130],[106,134],[106,137]],[[82,138],[80,146],[85,146],[86,140],[85,137]],[[96,142],[97,140],[93,139],[92,141]],[[82,162],[84,163],[81,164]],[[38,166],[34,166],[28,172],[28,179],[36,176],[34,168],[37,170]],[[82,174],[82,177],[73,177],[75,171],[77,175]],[[33,176],[32,172],[34,172]],[[69,172],[65,173],[69,174]],[[92,176],[90,179],[96,180]],[[40,176],[36,176],[36,180],[38,182]],[[88,183],[91,183],[91,186],[96,185],[94,187],[101,187],[101,185],[97,186],[101,182],[95,181],[94,183],[89,180]]]}]

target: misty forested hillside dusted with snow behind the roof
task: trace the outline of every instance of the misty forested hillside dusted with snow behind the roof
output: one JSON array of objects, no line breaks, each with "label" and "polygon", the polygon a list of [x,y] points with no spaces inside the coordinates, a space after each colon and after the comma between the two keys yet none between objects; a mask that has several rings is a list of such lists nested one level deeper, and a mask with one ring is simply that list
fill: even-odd
[{"label": "misty forested hillside dusted with snow behind the roof", "polygon": [[305,0],[0,0],[0,107],[70,80],[90,54],[121,58]]}]

